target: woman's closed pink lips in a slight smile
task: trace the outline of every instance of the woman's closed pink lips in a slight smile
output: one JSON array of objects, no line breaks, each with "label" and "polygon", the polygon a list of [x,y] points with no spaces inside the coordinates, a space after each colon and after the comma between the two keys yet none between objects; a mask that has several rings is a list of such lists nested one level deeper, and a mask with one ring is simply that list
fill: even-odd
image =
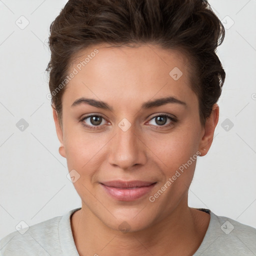
[{"label": "woman's closed pink lips in a slight smile", "polygon": [[133,201],[147,194],[156,184],[156,182],[141,180],[112,180],[100,182],[103,189],[112,198],[121,201]]}]

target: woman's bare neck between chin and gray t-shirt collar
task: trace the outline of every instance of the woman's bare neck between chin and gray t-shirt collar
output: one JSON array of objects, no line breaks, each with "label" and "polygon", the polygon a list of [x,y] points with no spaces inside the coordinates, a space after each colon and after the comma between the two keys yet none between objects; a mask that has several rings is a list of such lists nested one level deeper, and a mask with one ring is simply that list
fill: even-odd
[{"label": "woman's bare neck between chin and gray t-shirt collar", "polygon": [[106,226],[87,207],[71,217],[79,255],[192,255],[209,223],[209,214],[187,206],[187,196],[165,218],[133,232]]}]

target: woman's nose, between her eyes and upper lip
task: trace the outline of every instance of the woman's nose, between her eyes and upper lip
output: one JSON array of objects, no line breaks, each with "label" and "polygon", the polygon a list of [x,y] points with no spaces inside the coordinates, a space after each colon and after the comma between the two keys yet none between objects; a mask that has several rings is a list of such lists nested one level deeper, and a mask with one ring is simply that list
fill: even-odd
[{"label": "woman's nose, between her eyes and upper lip", "polygon": [[[138,132],[137,132],[138,133]],[[126,131],[118,126],[111,139],[108,161],[123,170],[146,162],[146,146],[131,125]]]}]

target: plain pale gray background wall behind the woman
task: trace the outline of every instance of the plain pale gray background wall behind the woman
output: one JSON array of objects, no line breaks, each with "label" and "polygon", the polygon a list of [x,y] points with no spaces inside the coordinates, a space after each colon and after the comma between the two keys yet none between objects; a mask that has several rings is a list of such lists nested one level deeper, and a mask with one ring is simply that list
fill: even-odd
[{"label": "plain pale gray background wall behind the woman", "polygon": [[[0,0],[0,238],[21,220],[32,225],[80,206],[58,153],[44,72],[49,25],[65,2]],[[209,3],[226,27],[217,50],[226,80],[219,123],[208,154],[198,158],[189,206],[256,227],[256,0]],[[28,124],[23,131],[21,118]]]}]

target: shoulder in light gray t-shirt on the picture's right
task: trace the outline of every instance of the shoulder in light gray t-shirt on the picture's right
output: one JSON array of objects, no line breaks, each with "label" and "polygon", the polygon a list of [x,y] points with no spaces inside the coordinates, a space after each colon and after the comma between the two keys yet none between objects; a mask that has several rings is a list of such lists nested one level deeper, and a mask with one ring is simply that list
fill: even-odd
[{"label": "shoulder in light gray t-shirt on the picture's right", "polygon": [[200,255],[255,255],[256,228],[225,216],[210,213],[204,239],[194,254]]}]

